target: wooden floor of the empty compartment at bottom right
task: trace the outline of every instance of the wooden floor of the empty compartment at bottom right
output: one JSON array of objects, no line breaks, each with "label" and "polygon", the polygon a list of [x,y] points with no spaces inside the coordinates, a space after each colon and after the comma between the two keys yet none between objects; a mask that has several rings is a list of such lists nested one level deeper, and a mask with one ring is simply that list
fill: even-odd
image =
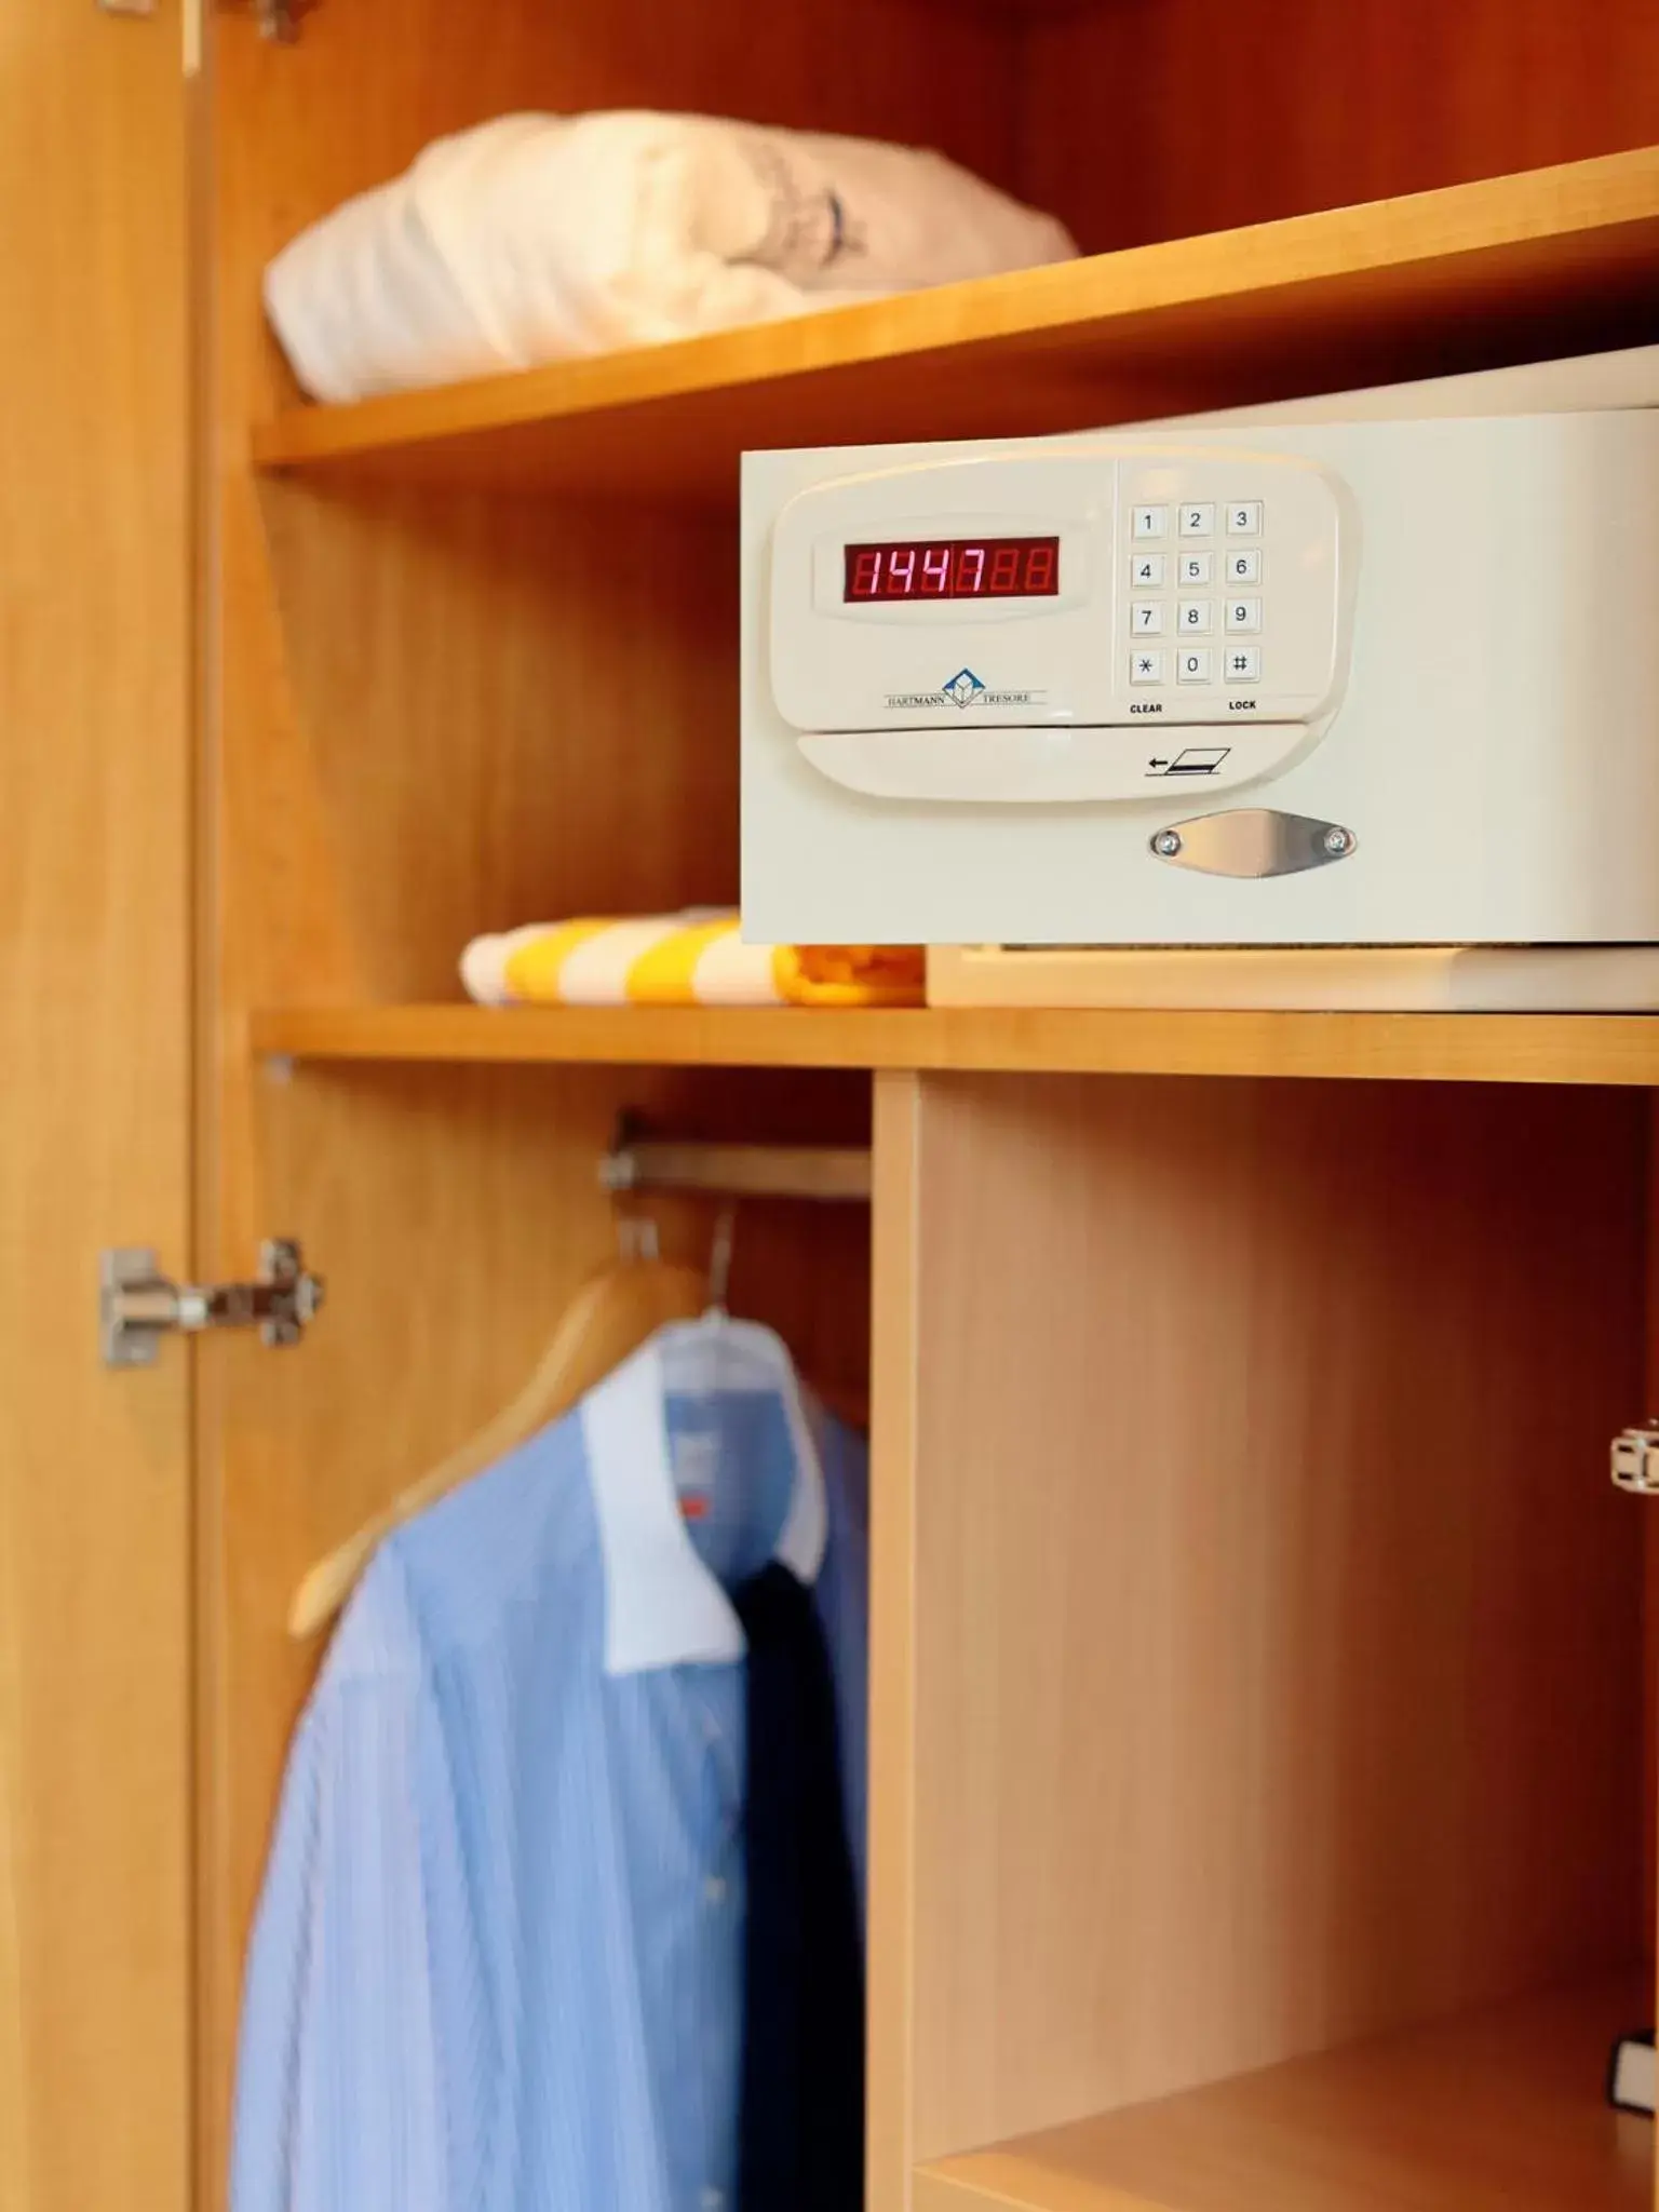
[{"label": "wooden floor of the empty compartment at bottom right", "polygon": [[916,2177],[916,2212],[1650,2212],[1652,2121],[1613,2112],[1639,1978],[1272,2066]]}]

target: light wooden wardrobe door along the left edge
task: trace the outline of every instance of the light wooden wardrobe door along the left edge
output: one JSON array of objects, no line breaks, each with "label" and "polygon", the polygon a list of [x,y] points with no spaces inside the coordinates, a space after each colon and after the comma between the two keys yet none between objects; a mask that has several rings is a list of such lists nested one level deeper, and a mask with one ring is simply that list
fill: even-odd
[{"label": "light wooden wardrobe door along the left edge", "polygon": [[0,2205],[188,2203],[190,478],[177,0],[0,0]]}]

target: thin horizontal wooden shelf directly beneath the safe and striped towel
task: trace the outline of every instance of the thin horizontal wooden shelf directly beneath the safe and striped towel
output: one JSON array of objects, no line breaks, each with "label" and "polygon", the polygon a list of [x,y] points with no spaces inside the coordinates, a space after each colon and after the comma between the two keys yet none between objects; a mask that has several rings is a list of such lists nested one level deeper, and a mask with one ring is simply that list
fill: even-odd
[{"label": "thin horizontal wooden shelf directly beneath the safe and striped towel", "polygon": [[250,1044],[257,1053],[334,1062],[599,1062],[1659,1084],[1659,1015],[1644,1013],[292,1006],[257,1013]]}]

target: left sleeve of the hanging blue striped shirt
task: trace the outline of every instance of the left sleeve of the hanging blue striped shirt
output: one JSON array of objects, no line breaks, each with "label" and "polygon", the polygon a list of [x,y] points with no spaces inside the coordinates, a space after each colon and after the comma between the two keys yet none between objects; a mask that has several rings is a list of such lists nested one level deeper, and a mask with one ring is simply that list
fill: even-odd
[{"label": "left sleeve of the hanging blue striped shirt", "polygon": [[[451,2212],[422,1803],[438,1717],[376,1562],[294,1739],[243,1989],[230,2212]],[[392,1604],[387,1604],[392,1599]]]}]

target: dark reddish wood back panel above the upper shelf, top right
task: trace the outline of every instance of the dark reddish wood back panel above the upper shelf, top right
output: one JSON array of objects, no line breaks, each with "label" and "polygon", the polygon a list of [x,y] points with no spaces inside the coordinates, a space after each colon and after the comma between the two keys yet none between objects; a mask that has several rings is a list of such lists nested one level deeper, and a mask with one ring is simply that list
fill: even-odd
[{"label": "dark reddish wood back panel above the upper shelf, top right", "polygon": [[1641,0],[1110,0],[1029,29],[1022,186],[1091,252],[1652,139]]}]

